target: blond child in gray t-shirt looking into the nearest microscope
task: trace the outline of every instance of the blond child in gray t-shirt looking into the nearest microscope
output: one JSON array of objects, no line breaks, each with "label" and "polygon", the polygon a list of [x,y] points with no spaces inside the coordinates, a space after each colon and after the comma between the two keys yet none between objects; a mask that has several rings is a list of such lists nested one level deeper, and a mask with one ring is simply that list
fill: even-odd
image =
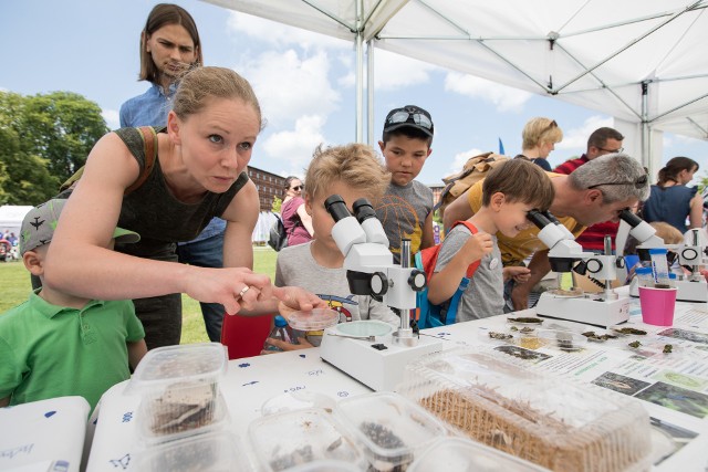
[{"label": "blond child in gray t-shirt looking into the nearest microscope", "polygon": [[[324,208],[324,200],[332,195],[341,196],[350,211],[360,198],[376,204],[389,179],[374,149],[368,146],[350,144],[315,150],[305,176],[305,209],[312,217],[314,239],[278,253],[275,285],[295,285],[317,294],[330,308],[340,313],[340,323],[379,319],[398,327],[399,318],[388,306],[350,291],[343,266],[344,254],[332,238],[334,220]],[[322,332],[311,332],[299,339],[299,345],[272,338],[267,343],[292,350],[319,346],[321,339]]]}]

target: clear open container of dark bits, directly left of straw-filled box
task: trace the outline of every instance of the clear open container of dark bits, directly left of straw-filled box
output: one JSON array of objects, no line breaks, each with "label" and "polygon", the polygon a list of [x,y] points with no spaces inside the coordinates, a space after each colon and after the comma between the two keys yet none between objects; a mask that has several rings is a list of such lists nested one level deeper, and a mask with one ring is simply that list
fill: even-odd
[{"label": "clear open container of dark bits, directly left of straw-filled box", "polygon": [[415,454],[448,433],[433,415],[393,392],[341,400],[334,412],[356,437],[372,471],[406,470]]}]

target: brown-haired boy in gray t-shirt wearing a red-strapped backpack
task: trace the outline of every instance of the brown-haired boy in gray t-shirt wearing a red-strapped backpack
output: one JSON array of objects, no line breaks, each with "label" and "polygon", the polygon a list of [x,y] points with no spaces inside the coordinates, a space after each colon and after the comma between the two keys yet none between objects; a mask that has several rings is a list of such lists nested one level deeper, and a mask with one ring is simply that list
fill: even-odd
[{"label": "brown-haired boy in gray t-shirt wearing a red-strapped backpack", "polygon": [[456,321],[466,322],[503,313],[503,282],[514,277],[522,282],[529,269],[502,269],[497,232],[513,238],[532,224],[530,210],[545,211],[555,192],[551,179],[543,170],[524,159],[512,159],[492,169],[483,181],[482,206],[468,222],[478,232],[472,234],[466,225],[452,228],[440,247],[434,275],[428,281],[428,300],[440,305],[457,291],[467,268],[480,261],[469,285],[460,298]]}]

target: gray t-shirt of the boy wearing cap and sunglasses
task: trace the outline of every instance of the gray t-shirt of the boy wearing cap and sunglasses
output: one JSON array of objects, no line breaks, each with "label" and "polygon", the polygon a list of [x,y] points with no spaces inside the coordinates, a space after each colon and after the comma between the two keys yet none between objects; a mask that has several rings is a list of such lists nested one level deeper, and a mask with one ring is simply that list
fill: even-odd
[{"label": "gray t-shirt of the boy wearing cap and sunglasses", "polygon": [[389,183],[376,216],[386,231],[394,262],[400,263],[400,239],[410,240],[410,254],[420,250],[423,228],[433,211],[433,190],[417,180],[406,186]]}]

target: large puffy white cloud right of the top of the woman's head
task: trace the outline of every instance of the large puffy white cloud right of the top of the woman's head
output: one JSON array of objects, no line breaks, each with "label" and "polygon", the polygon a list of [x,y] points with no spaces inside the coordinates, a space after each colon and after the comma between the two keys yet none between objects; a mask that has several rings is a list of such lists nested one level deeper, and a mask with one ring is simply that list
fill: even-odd
[{"label": "large puffy white cloud right of the top of the woman's head", "polygon": [[292,126],[303,115],[327,116],[340,102],[327,78],[330,59],[324,51],[304,57],[292,49],[268,51],[246,69],[243,75],[253,85],[263,117],[275,128]]}]

